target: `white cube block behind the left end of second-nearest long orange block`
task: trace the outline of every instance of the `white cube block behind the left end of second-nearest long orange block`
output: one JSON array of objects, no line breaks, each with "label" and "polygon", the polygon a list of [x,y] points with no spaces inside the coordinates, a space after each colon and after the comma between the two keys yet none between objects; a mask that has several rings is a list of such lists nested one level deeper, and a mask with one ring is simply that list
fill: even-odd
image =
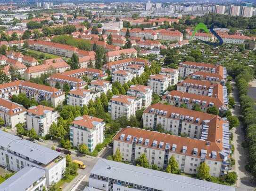
[{"label": "white cube block behind the left end of second-nearest long orange block", "polygon": [[152,93],[153,90],[145,85],[131,85],[127,91],[127,95],[142,99],[142,107],[149,107],[151,105]]}]

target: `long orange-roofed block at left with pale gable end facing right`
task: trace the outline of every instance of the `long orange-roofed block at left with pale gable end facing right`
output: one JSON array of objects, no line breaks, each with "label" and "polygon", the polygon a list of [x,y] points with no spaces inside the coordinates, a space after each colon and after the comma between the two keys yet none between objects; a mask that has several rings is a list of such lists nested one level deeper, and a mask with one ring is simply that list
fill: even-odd
[{"label": "long orange-roofed block at left with pale gable end facing right", "polygon": [[35,99],[38,103],[45,100],[51,102],[53,107],[57,107],[65,99],[65,93],[57,88],[26,81],[19,82],[19,92],[25,93],[29,99]]}]

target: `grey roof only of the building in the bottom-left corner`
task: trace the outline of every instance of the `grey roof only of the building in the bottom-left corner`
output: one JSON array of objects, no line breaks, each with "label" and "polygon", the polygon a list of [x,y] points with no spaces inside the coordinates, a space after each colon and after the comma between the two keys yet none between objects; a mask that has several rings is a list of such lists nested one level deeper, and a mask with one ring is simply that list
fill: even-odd
[{"label": "grey roof only of the building in the bottom-left corner", "polygon": [[0,184],[0,191],[25,191],[42,176],[44,176],[44,170],[41,168],[22,168]]}]

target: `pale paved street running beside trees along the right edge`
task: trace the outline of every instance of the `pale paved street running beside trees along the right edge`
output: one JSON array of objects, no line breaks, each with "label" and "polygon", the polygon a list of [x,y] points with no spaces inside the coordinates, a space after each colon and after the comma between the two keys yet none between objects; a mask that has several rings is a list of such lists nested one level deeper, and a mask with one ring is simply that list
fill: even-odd
[{"label": "pale paved street running beside trees along the right edge", "polygon": [[[240,103],[238,97],[238,90],[235,83],[232,81],[231,85],[233,87],[233,96],[235,99],[235,108],[231,110],[232,115],[240,116]],[[231,130],[233,133],[233,145],[235,151],[233,154],[236,164],[233,167],[234,171],[237,172],[238,181],[236,183],[236,191],[254,191],[256,183],[252,176],[245,170],[245,165],[247,164],[247,153],[242,147],[242,143],[245,140],[244,130],[242,129],[242,124],[236,129]]]}]

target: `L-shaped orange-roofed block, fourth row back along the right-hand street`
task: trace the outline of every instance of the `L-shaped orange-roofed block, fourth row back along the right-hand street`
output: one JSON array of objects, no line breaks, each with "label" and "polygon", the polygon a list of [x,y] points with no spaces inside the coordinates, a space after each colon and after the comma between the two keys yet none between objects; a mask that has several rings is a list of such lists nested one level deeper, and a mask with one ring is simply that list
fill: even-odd
[{"label": "L-shaped orange-roofed block, fourth row back along the right-hand street", "polygon": [[177,91],[219,98],[228,104],[227,87],[221,84],[188,78],[177,84]]}]

